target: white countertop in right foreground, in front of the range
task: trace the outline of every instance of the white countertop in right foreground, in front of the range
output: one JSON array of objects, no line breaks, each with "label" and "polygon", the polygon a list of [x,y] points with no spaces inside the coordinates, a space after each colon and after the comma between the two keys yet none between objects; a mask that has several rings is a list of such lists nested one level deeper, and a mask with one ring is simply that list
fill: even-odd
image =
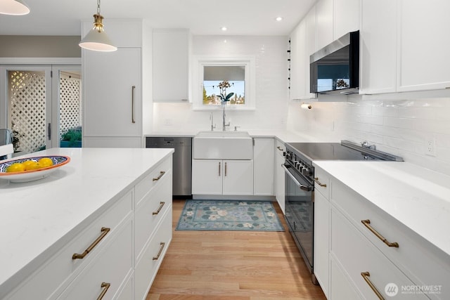
[{"label": "white countertop in right foreground, in front of the range", "polygon": [[313,164],[450,255],[450,176],[408,162]]}]

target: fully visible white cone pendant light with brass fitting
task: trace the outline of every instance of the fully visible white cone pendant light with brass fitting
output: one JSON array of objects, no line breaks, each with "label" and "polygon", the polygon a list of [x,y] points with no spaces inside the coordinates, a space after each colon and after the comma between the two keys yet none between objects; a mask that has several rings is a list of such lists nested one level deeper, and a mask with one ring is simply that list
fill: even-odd
[{"label": "fully visible white cone pendant light with brass fitting", "polygon": [[100,0],[97,0],[97,13],[94,15],[94,27],[82,41],[79,46],[93,51],[116,51],[117,47],[113,45],[105,30],[103,29],[103,16],[100,14]]}]

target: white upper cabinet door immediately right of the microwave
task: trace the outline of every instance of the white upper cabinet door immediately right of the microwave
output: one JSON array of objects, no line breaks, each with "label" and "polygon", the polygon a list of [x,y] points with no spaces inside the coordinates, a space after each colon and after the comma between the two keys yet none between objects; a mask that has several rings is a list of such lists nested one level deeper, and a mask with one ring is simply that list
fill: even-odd
[{"label": "white upper cabinet door immediately right of the microwave", "polygon": [[[361,6],[361,93],[395,92],[397,1],[363,1]],[[380,22],[380,15],[383,15],[383,22]]]}]

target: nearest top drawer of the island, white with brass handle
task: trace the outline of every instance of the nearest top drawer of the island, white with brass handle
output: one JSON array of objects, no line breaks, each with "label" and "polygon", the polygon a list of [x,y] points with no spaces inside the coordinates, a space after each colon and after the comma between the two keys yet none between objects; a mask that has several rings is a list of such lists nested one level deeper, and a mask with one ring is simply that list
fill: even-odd
[{"label": "nearest top drawer of the island, white with brass handle", "polygon": [[[96,221],[72,239],[56,255],[43,264],[36,273],[23,282],[18,289],[6,296],[6,299],[47,299],[51,294],[58,294],[66,280],[73,278],[82,268],[91,261],[105,243],[108,243],[119,224],[132,213],[133,203],[131,192],[124,195],[117,203],[105,211]],[[110,231],[101,231],[101,228],[110,228]],[[82,254],[93,242],[103,235],[103,239],[91,249],[84,259],[72,259],[73,254]],[[32,247],[32,245],[30,245]],[[67,284],[67,283],[66,283]],[[44,288],[45,287],[45,288]],[[53,295],[54,296],[54,295]]]}]

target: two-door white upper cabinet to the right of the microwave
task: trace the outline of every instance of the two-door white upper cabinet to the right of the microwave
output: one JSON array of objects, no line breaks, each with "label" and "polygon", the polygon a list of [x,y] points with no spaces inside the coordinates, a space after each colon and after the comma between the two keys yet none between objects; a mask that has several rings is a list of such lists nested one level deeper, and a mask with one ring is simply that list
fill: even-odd
[{"label": "two-door white upper cabinet to the right of the microwave", "polygon": [[[450,2],[362,1],[360,93],[450,87]],[[383,15],[383,21],[380,20]]]}]

